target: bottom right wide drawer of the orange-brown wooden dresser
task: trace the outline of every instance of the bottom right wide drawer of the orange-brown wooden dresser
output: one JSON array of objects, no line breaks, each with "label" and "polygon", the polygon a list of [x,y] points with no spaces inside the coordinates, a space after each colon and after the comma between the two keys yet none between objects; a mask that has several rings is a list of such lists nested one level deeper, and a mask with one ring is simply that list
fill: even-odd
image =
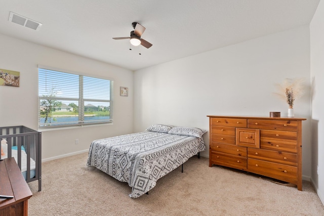
[{"label": "bottom right wide drawer of the orange-brown wooden dresser", "polygon": [[297,184],[297,167],[263,160],[248,159],[248,171]]}]

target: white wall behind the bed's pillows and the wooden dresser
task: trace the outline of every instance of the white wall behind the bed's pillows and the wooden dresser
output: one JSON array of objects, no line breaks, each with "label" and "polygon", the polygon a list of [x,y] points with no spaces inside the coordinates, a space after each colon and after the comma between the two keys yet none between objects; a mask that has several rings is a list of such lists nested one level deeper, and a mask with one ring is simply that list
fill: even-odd
[{"label": "white wall behind the bed's pillows and the wooden dresser", "polygon": [[[287,116],[275,83],[305,77],[305,95],[296,100],[303,121],[303,177],[310,178],[309,28],[279,32],[134,73],[134,131],[153,123],[209,130],[207,115]],[[285,93],[284,93],[285,94]],[[208,134],[204,135],[209,149]],[[208,150],[201,155],[208,156]]]}]

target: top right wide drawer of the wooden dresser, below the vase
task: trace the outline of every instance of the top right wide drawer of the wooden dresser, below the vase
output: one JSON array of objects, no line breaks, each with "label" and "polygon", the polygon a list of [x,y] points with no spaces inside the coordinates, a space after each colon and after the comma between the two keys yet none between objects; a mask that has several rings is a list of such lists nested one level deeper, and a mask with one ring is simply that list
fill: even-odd
[{"label": "top right wide drawer of the wooden dresser, below the vase", "polygon": [[297,132],[298,122],[295,120],[264,120],[264,119],[248,119],[249,128],[273,129],[282,131]]}]

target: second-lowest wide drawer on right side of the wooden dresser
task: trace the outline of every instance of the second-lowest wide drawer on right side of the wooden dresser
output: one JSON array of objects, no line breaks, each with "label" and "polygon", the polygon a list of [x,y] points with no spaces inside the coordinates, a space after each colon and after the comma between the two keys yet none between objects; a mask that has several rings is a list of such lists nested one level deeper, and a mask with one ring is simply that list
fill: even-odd
[{"label": "second-lowest wide drawer on right side of the wooden dresser", "polygon": [[292,154],[287,152],[248,148],[248,157],[259,159],[259,160],[266,160],[275,163],[297,166],[297,154]]}]

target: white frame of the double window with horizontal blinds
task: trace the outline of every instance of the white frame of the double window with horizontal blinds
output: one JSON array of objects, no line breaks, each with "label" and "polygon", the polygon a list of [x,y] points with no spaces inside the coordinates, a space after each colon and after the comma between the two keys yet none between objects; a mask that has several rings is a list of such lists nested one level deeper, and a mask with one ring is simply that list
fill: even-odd
[{"label": "white frame of the double window with horizontal blinds", "polygon": [[[44,65],[38,65],[37,67],[38,69],[38,128],[44,128],[44,129],[50,129],[50,128],[61,128],[61,127],[75,127],[75,126],[84,126],[84,125],[98,125],[98,124],[112,124],[113,123],[113,79],[111,78],[107,78],[107,77],[100,77],[100,76],[95,76],[95,75],[89,75],[89,74],[85,74],[85,73],[78,73],[78,72],[74,72],[74,71],[69,71],[69,70],[65,70],[65,69],[59,69],[59,68],[54,68],[54,67],[50,67],[50,66],[44,66]],[[79,89],[79,94],[78,94],[78,98],[70,98],[70,97],[47,97],[47,96],[40,96],[39,95],[39,91],[40,91],[40,83],[39,83],[39,74],[40,74],[40,70],[48,70],[48,71],[55,71],[55,72],[61,72],[61,73],[67,73],[67,74],[71,74],[71,75],[76,75],[79,77],[78,80],[78,89]],[[61,76],[59,76],[61,77]],[[84,98],[84,77],[89,77],[90,79],[102,79],[105,81],[109,82],[109,99],[91,99],[91,98]],[[57,82],[59,81],[56,80]],[[96,94],[97,92],[95,92]],[[63,122],[62,124],[59,123],[47,123],[47,124],[52,124],[52,125],[46,125],[46,123],[41,123],[41,100],[44,99],[49,99],[52,100],[54,99],[57,101],[77,101],[77,107],[78,107],[78,120],[76,121],[71,121],[71,123],[68,123],[68,121]],[[86,104],[85,102],[95,102],[95,103],[109,103],[109,119],[103,119],[103,120],[99,120],[99,119],[95,119],[95,120],[91,120],[91,121],[87,121],[85,120],[85,107]],[[65,104],[68,106],[68,104]],[[108,107],[108,106],[107,106]],[[52,117],[52,116],[51,116]]]}]

